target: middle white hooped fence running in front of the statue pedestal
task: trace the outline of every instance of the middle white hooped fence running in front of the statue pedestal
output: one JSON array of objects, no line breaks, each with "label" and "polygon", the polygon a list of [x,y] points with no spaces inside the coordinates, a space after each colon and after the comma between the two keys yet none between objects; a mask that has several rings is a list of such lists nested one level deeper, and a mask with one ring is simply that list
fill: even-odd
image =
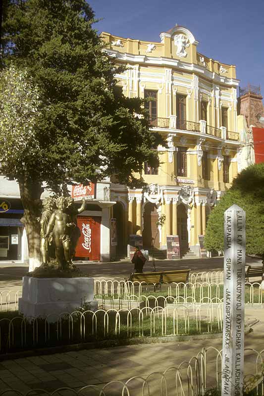
[{"label": "middle white hooped fence running in front of the statue pedestal", "polygon": [[[207,305],[207,306],[205,306]],[[222,304],[99,309],[43,318],[0,319],[0,353],[113,338],[177,336],[222,330]]]}]

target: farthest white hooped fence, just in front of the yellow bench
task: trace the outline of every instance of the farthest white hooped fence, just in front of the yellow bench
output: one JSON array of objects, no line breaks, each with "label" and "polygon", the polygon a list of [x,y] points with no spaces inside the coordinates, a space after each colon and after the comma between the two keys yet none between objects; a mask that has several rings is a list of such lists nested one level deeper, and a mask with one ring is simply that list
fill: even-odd
[{"label": "farthest white hooped fence, just in front of the yellow bench", "polygon": [[[261,283],[246,282],[245,291],[246,304],[264,305],[264,289]],[[223,300],[222,296],[223,283],[217,282],[163,284],[162,289],[154,293],[153,285],[146,285],[144,282],[95,280],[95,299],[99,301],[103,309],[151,306],[151,300],[154,301],[155,306],[161,305],[162,307],[168,303],[219,304]],[[17,310],[19,297],[21,297],[21,290],[0,292],[0,312]]]}]

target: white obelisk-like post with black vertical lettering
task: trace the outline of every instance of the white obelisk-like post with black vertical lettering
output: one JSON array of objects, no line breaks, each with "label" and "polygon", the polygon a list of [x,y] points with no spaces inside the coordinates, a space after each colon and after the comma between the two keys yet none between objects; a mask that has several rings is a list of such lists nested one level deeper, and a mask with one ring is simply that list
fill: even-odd
[{"label": "white obelisk-like post with black vertical lettering", "polygon": [[224,305],[221,396],[241,396],[244,375],[246,214],[224,213]]}]

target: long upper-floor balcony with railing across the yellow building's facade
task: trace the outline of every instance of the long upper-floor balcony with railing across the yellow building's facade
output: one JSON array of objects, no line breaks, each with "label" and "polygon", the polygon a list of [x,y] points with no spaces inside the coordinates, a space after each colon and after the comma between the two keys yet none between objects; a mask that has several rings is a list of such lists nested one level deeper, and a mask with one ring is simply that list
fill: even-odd
[{"label": "long upper-floor balcony with railing across the yellow building's facade", "polygon": [[176,115],[169,118],[151,117],[150,124],[152,128],[178,129],[181,131],[189,131],[214,136],[218,139],[231,140],[239,142],[239,133],[227,131],[225,127],[216,128],[208,125],[206,121],[199,122],[180,120]]}]

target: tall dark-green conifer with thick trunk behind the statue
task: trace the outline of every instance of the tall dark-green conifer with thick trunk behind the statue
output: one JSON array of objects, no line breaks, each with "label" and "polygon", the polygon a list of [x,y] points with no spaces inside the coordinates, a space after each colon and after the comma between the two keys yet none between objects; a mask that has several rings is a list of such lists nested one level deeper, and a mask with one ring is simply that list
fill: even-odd
[{"label": "tall dark-green conifer with thick trunk behind the statue", "polygon": [[[123,68],[115,67],[104,51],[85,0],[3,4],[0,118],[15,117],[1,122],[0,139],[8,137],[0,146],[1,166],[9,179],[18,181],[29,255],[38,261],[35,218],[44,182],[58,194],[71,181],[85,184],[109,175],[138,186],[142,181],[134,172],[142,170],[144,161],[157,165],[153,148],[163,141],[149,131],[148,117],[141,117],[146,116],[144,101],[116,94],[114,74]],[[29,97],[24,96],[22,81],[30,86]],[[31,100],[36,107],[25,108]]]}]

